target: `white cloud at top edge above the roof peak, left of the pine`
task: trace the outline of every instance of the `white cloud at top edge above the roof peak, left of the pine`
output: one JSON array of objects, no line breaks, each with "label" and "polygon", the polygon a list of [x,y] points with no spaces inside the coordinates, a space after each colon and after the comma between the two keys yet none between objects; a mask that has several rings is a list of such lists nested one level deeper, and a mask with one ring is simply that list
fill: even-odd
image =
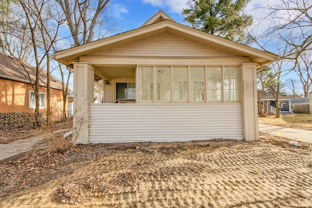
[{"label": "white cloud at top edge above the roof peak, left of the pine", "polygon": [[187,8],[188,0],[142,0],[143,3],[150,3],[160,8],[169,8],[170,12],[181,14],[182,8]]}]

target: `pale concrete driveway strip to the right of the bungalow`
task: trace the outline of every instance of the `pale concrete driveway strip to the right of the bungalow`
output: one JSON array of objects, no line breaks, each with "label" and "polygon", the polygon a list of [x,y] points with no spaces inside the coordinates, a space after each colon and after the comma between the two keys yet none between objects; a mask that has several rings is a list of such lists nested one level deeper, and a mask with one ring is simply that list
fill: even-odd
[{"label": "pale concrete driveway strip to the right of the bungalow", "polygon": [[259,124],[259,130],[271,135],[278,135],[285,138],[292,139],[293,141],[302,141],[312,143],[312,131],[284,128],[280,126],[271,126]]}]

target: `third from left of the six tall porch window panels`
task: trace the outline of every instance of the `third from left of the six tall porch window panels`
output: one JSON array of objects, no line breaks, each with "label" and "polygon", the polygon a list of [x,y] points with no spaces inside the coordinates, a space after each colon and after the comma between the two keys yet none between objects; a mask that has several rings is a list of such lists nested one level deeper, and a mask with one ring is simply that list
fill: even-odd
[{"label": "third from left of the six tall porch window panels", "polygon": [[173,68],[174,101],[188,101],[188,67]]}]

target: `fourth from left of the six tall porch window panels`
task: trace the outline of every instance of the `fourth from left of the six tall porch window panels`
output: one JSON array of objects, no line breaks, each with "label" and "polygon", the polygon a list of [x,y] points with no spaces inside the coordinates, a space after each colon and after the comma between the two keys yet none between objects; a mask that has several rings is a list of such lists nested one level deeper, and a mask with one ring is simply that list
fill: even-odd
[{"label": "fourth from left of the six tall porch window panels", "polygon": [[191,67],[191,101],[205,100],[205,67]]}]

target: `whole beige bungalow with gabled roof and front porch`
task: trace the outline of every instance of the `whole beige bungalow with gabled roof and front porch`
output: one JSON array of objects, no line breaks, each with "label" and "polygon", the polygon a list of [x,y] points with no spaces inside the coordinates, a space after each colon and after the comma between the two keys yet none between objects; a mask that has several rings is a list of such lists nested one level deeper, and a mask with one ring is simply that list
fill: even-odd
[{"label": "whole beige bungalow with gabled roof and front porch", "polygon": [[[175,22],[55,53],[74,69],[77,143],[258,140],[256,71],[279,57]],[[104,102],[93,103],[94,80]]]}]

